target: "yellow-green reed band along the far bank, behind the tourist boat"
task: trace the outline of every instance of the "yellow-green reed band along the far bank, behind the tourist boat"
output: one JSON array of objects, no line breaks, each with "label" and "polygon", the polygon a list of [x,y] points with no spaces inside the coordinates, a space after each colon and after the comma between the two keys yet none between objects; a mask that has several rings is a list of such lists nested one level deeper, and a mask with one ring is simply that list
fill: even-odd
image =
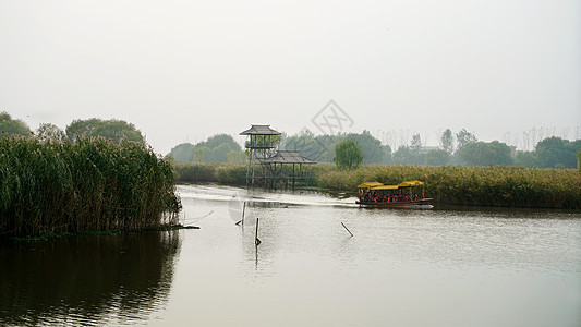
[{"label": "yellow-green reed band along the far bank, behind the tourist boat", "polygon": [[[175,166],[180,182],[214,181],[234,185],[245,184],[245,169],[244,165],[228,164]],[[581,173],[574,169],[367,165],[346,171],[319,164],[303,167],[303,172],[312,177],[306,185],[331,191],[355,192],[356,185],[368,181],[398,184],[421,180],[426,183],[426,196],[449,204],[581,208]]]}]

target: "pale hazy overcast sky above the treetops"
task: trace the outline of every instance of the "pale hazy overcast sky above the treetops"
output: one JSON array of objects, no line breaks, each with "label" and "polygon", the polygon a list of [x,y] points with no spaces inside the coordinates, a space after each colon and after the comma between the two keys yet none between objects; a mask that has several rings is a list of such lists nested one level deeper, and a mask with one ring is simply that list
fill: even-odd
[{"label": "pale hazy overcast sky above the treetops", "polygon": [[0,111],[32,129],[117,118],[166,154],[252,123],[316,131],[331,99],[343,131],[573,138],[581,2],[0,0]]}]

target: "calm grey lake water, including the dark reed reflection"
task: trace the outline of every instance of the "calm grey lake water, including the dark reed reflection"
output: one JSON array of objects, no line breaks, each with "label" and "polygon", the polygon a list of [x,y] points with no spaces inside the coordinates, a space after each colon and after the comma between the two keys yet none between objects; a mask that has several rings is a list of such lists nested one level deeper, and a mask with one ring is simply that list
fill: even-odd
[{"label": "calm grey lake water, including the dark reed reflection", "polygon": [[0,326],[581,326],[580,211],[179,192],[201,229],[0,243]]}]

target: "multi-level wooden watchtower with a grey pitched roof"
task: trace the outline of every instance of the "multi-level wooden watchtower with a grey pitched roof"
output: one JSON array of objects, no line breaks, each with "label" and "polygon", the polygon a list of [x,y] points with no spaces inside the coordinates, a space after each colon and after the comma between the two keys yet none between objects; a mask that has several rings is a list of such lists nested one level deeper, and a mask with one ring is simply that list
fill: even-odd
[{"label": "multi-level wooden watchtower with a grey pitched roof", "polygon": [[[278,141],[276,136],[280,136],[280,132],[270,129],[270,125],[252,125],[240,135],[249,135],[249,141],[245,143],[245,147],[249,149],[246,185],[254,185],[255,180],[267,178],[266,167],[261,164],[274,155]],[[259,172],[256,171],[256,165],[258,165]]]}]

